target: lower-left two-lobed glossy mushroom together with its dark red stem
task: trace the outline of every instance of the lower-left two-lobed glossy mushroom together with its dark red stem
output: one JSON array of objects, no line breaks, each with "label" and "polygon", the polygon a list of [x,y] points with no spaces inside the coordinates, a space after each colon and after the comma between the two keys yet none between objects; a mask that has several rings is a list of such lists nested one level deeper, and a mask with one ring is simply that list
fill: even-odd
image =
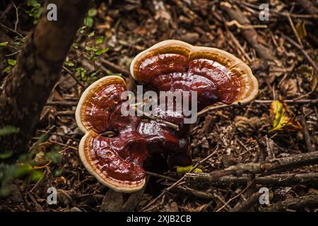
[{"label": "lower-left two-lobed glossy mushroom together with its dark red stem", "polygon": [[[86,133],[79,155],[88,172],[114,191],[133,192],[143,188],[143,162],[149,153],[171,155],[170,162],[191,164],[189,143],[156,121],[123,116],[126,84],[119,76],[106,76],[90,85],[78,102],[76,122]],[[113,137],[105,136],[112,131]]]}]

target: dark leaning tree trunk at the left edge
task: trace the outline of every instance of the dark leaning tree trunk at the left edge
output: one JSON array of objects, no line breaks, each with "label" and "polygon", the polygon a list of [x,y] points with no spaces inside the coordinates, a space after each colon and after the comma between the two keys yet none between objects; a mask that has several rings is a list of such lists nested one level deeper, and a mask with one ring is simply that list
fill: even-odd
[{"label": "dark leaning tree trunk at the left edge", "polygon": [[45,9],[47,4],[57,5],[57,21],[47,20],[47,13],[43,13],[0,90],[0,128],[10,125],[20,129],[19,133],[0,136],[0,153],[28,149],[42,108],[59,81],[64,59],[90,1],[50,0],[45,2]]}]

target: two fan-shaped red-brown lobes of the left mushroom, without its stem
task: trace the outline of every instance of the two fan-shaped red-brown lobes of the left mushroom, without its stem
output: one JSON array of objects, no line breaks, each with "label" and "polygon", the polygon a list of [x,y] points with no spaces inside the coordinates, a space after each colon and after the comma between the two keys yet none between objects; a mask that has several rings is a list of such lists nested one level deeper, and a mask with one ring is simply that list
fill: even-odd
[{"label": "two fan-shaped red-brown lobes of the left mushroom, without its stem", "polygon": [[114,191],[133,192],[145,184],[142,165],[148,155],[146,143],[129,143],[136,138],[134,131],[126,133],[126,139],[100,135],[113,129],[113,117],[120,114],[119,102],[124,91],[126,84],[119,76],[101,78],[85,90],[76,108],[76,122],[86,133],[78,151],[88,172],[102,184]]}]

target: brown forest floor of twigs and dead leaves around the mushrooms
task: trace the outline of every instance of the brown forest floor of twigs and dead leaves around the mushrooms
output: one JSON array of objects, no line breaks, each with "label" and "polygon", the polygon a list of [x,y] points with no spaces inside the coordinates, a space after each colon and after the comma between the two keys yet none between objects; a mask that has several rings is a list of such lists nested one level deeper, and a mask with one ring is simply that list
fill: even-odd
[{"label": "brown forest floor of twigs and dead leaves around the mushrooms", "polygon": [[[30,143],[40,176],[14,179],[10,194],[0,198],[0,210],[317,211],[318,6],[271,0],[269,20],[260,20],[260,1],[122,2],[92,5]],[[15,7],[5,13],[1,18],[11,30],[1,27],[0,42],[32,29],[23,27],[21,12],[14,30]],[[199,112],[191,145],[194,165],[199,162],[203,174],[177,174],[163,167],[163,160],[147,169],[145,190],[117,194],[81,163],[76,105],[102,76],[120,73],[136,85],[129,78],[131,59],[167,39],[235,54],[257,77],[259,95],[246,106]],[[10,66],[7,59],[15,57],[1,55],[0,81]],[[57,161],[45,155],[52,150],[60,153]],[[264,162],[272,168],[266,170]],[[56,205],[47,203],[51,186],[57,189]],[[268,191],[268,204],[259,201],[260,189]]]}]

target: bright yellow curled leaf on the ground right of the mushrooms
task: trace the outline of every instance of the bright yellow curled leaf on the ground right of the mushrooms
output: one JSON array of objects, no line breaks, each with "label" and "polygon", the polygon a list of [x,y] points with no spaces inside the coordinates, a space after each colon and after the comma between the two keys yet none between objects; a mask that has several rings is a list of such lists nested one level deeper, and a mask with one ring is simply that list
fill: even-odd
[{"label": "bright yellow curled leaf on the ground right of the mushrooms", "polygon": [[271,103],[271,115],[273,116],[273,129],[272,131],[300,131],[302,126],[300,122],[291,117],[290,110],[285,102],[275,100]]}]

